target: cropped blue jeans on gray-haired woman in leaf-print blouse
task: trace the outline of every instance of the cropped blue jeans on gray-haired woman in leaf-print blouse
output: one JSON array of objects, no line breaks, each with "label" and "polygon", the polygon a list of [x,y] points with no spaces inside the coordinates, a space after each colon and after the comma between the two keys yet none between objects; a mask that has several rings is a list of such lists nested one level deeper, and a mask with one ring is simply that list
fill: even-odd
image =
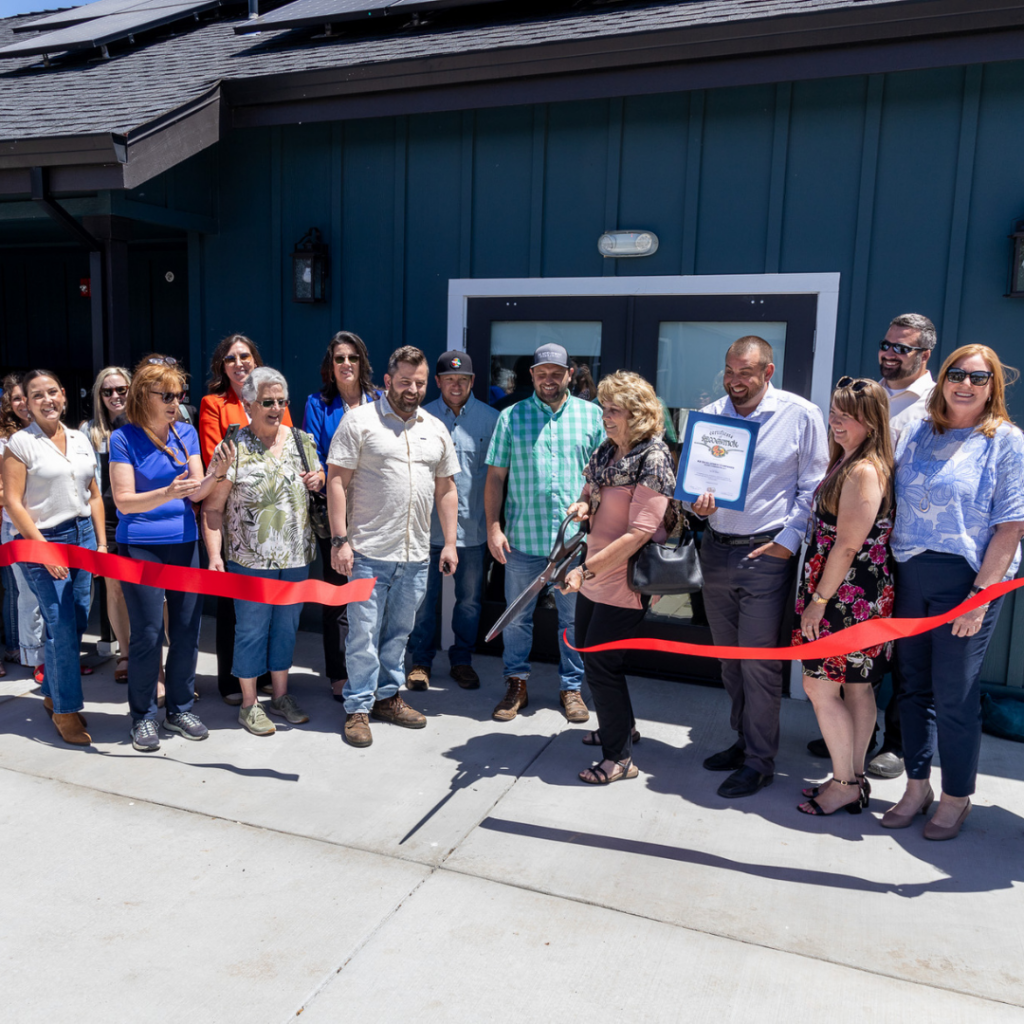
[{"label": "cropped blue jeans on gray-haired woman in leaf-print blouse", "polygon": [[[227,571],[285,583],[300,583],[309,578],[308,565],[291,569],[251,569],[238,562],[228,562]],[[236,598],[231,675],[239,679],[256,679],[264,672],[287,672],[292,667],[301,614],[301,603],[262,604]]]}]

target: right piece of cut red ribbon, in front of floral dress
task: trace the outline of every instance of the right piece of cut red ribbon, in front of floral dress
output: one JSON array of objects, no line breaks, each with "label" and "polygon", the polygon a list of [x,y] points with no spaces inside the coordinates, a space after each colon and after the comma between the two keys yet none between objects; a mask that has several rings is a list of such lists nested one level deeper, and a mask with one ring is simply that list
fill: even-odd
[{"label": "right piece of cut red ribbon, in front of floral dress", "polygon": [[610,643],[599,643],[593,647],[572,647],[565,638],[565,633],[562,634],[562,639],[566,647],[584,654],[601,650],[656,650],[666,654],[689,654],[693,657],[804,662],[851,654],[855,650],[867,650],[889,640],[901,640],[928,633],[1020,587],[1024,587],[1024,580],[1007,580],[986,587],[980,594],[968,598],[941,615],[930,615],[927,618],[869,618],[867,622],[857,623],[838,633],[819,637],[810,643],[797,644],[795,647],[725,647],[717,644],[682,643],[678,640],[655,640],[651,637],[612,640]]}]

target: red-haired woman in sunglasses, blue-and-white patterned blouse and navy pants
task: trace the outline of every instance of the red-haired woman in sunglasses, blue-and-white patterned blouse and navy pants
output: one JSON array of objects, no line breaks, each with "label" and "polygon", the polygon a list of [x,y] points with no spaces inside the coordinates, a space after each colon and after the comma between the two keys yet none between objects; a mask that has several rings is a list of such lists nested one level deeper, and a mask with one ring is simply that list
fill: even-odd
[{"label": "red-haired woman in sunglasses, blue-and-white patterned blouse and navy pants", "polygon": [[[938,381],[926,418],[903,430],[896,449],[897,617],[948,611],[1020,564],[1024,434],[1007,413],[1002,365],[987,345],[965,345]],[[970,813],[981,750],[979,677],[1001,603],[897,640],[907,783],[882,818],[886,828],[905,828],[932,805],[936,735],[942,793],[925,838],[953,839]]]}]

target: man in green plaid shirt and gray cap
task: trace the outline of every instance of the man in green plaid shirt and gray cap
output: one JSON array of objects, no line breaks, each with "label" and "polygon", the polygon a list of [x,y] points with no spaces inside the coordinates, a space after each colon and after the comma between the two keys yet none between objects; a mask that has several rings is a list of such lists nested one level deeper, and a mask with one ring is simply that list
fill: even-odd
[{"label": "man in green plaid shirt and gray cap", "polygon": [[[583,489],[583,471],[604,440],[600,407],[569,394],[572,371],[561,345],[542,345],[530,368],[534,394],[502,412],[487,450],[487,482],[483,505],[487,547],[505,566],[505,600],[515,600],[548,564],[558,527]],[[505,528],[499,516],[502,490],[508,480]],[[551,588],[558,609],[558,675],[561,706],[570,722],[590,718],[580,696],[583,658],[565,646],[575,635],[575,594]],[[538,595],[540,597],[540,595]],[[494,711],[499,722],[510,722],[526,707],[529,651],[534,645],[537,598],[505,627],[506,692]]]}]

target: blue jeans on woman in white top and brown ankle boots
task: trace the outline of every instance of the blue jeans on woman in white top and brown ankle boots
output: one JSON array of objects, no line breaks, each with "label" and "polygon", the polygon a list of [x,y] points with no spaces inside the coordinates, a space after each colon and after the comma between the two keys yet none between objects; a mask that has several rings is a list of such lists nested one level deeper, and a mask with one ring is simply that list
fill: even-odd
[{"label": "blue jeans on woman in white top and brown ankle boots", "polygon": [[[92,520],[86,516],[68,519],[40,532],[53,544],[76,544],[89,551],[96,550]],[[84,569],[69,569],[63,580],[54,580],[46,567],[37,562],[23,562],[22,568],[29,589],[39,602],[45,626],[43,695],[53,700],[54,715],[81,711],[82,670],[79,658],[82,634],[89,621],[92,573]]]}]

